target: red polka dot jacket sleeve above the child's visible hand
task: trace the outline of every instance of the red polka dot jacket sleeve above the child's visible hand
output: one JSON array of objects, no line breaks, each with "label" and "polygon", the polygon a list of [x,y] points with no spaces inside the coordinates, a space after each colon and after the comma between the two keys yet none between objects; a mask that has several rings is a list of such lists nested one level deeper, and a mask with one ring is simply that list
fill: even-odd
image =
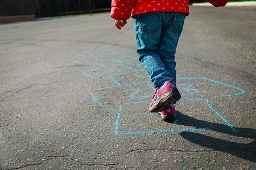
[{"label": "red polka dot jacket sleeve above the child's visible hand", "polygon": [[113,19],[127,20],[131,16],[135,0],[112,0],[110,16]]}]

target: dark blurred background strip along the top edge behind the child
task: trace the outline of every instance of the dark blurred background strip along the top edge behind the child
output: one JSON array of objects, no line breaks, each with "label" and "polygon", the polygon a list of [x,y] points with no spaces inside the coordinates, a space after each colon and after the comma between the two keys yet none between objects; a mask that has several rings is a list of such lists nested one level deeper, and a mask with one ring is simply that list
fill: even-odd
[{"label": "dark blurred background strip along the top edge behind the child", "polygon": [[[190,4],[195,2],[205,1],[189,0]],[[110,7],[111,0],[0,0],[0,17],[35,15],[42,18],[108,11]]]}]

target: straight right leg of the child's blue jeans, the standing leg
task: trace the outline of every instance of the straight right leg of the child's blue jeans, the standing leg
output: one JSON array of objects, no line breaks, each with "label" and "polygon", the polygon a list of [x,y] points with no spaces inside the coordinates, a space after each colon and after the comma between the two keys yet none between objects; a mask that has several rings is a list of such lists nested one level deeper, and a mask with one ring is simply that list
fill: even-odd
[{"label": "straight right leg of the child's blue jeans, the standing leg", "polygon": [[175,53],[177,42],[183,29],[184,19],[187,14],[181,12],[166,12],[166,23],[163,24],[159,41],[159,54],[164,67],[170,73],[176,84]]}]

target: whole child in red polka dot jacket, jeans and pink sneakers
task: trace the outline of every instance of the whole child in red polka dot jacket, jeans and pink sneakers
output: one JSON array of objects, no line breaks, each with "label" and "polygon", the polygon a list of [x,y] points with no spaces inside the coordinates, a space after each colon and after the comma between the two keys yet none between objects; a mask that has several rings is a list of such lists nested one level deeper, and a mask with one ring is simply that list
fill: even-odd
[{"label": "whole child in red polka dot jacket, jeans and pink sneakers", "polygon": [[[228,0],[207,0],[225,6]],[[180,99],[176,87],[175,52],[189,14],[188,0],[112,0],[111,17],[118,29],[134,18],[139,61],[155,87],[150,112],[164,121],[175,120],[174,103]]]}]

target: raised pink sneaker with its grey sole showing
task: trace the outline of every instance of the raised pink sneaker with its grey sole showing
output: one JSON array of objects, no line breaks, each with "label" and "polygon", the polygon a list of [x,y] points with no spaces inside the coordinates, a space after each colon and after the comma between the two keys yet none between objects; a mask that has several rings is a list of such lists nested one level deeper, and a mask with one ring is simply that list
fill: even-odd
[{"label": "raised pink sneaker with its grey sole showing", "polygon": [[170,108],[170,104],[180,100],[180,93],[172,80],[174,79],[165,82],[160,88],[155,88],[155,94],[149,107],[150,112],[166,111]]}]

